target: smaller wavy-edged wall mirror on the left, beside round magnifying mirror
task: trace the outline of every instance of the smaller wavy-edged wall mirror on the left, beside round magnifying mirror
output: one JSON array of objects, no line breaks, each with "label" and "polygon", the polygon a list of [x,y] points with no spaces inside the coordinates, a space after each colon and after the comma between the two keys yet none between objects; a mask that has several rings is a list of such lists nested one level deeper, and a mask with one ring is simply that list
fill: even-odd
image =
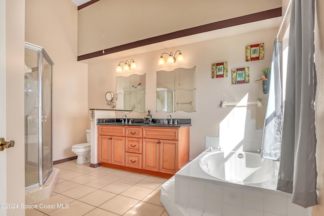
[{"label": "smaller wavy-edged wall mirror on the left, beside round magnifying mirror", "polygon": [[116,109],[145,113],[146,74],[116,77]]}]

